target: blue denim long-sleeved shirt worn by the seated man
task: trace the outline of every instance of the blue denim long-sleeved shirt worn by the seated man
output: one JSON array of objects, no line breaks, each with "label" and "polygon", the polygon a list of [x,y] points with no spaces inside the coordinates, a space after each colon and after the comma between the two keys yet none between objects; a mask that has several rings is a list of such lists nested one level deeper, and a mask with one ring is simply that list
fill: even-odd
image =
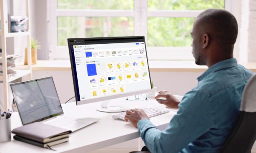
[{"label": "blue denim long-sleeved shirt worn by the seated man", "polygon": [[148,119],[138,122],[148,149],[151,153],[217,153],[238,121],[241,95],[252,75],[236,59],[212,65],[184,95],[166,130],[158,130]]}]

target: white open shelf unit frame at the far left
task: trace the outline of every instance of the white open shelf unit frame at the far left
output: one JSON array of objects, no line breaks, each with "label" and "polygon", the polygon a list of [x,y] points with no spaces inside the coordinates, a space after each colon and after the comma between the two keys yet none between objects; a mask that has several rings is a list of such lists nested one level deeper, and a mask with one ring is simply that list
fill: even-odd
[{"label": "white open shelf unit frame at the far left", "polygon": [[[8,87],[9,83],[22,78],[24,76],[29,76],[29,79],[32,79],[32,60],[31,60],[31,38],[30,38],[30,6],[29,6],[29,0],[26,0],[26,16],[29,18],[27,22],[27,31],[26,32],[14,32],[9,33],[8,32],[8,0],[0,0],[0,19],[1,19],[1,30],[0,30],[0,36],[1,36],[1,48],[2,48],[2,62],[3,62],[3,76],[0,76],[0,82],[3,82],[3,106],[0,106],[0,108],[7,110],[10,106],[9,104],[9,97],[8,97]],[[7,76],[7,52],[6,52],[6,38],[7,37],[18,37],[23,36],[27,39],[27,48],[28,48],[28,65],[24,68],[14,68],[17,72],[12,77]]]}]

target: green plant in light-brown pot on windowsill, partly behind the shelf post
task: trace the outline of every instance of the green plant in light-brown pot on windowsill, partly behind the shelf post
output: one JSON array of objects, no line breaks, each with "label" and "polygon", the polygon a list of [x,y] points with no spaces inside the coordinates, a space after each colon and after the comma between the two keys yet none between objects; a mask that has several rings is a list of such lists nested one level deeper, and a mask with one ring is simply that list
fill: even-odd
[{"label": "green plant in light-brown pot on windowsill, partly behind the shelf post", "polygon": [[[37,49],[41,49],[40,42],[37,39],[31,38],[31,57],[32,64],[37,62]],[[28,49],[25,49],[25,61],[24,65],[28,65]]]}]

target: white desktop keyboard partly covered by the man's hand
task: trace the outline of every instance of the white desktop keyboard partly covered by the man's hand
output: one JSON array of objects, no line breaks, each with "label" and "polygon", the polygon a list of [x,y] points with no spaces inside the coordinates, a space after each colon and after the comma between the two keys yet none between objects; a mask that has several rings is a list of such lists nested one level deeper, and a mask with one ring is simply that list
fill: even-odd
[{"label": "white desktop keyboard partly covered by the man's hand", "polygon": [[[153,116],[170,112],[170,110],[165,108],[164,106],[157,106],[154,108],[143,108],[143,111],[145,111],[148,117],[153,117]],[[112,118],[125,120],[125,115],[126,115],[126,112],[122,112],[122,113],[113,115]]]}]

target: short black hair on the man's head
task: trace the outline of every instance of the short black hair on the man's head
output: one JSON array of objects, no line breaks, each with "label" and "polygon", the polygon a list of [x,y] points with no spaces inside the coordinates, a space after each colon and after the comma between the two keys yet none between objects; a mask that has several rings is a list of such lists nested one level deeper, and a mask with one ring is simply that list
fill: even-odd
[{"label": "short black hair on the man's head", "polygon": [[233,45],[238,34],[236,18],[229,11],[222,9],[207,9],[197,17],[198,26],[204,32],[212,34],[212,39],[220,44]]}]

